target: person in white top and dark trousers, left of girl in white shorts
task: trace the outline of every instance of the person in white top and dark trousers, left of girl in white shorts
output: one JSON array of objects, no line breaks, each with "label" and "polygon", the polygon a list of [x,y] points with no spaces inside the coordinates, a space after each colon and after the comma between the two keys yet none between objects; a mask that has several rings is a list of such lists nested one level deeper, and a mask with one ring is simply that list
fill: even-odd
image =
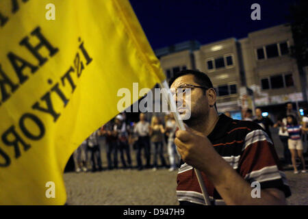
[{"label": "person in white top and dark trousers, left of girl in white shorts", "polygon": [[278,118],[277,123],[274,124],[273,126],[274,128],[279,127],[279,138],[281,140],[281,142],[283,143],[283,157],[284,157],[284,161],[285,164],[287,164],[288,166],[292,166],[292,160],[291,160],[291,152],[289,147],[287,146],[287,140],[289,139],[289,133],[287,133],[287,130],[285,129],[285,127],[287,127],[287,118],[285,115],[281,115]]}]

